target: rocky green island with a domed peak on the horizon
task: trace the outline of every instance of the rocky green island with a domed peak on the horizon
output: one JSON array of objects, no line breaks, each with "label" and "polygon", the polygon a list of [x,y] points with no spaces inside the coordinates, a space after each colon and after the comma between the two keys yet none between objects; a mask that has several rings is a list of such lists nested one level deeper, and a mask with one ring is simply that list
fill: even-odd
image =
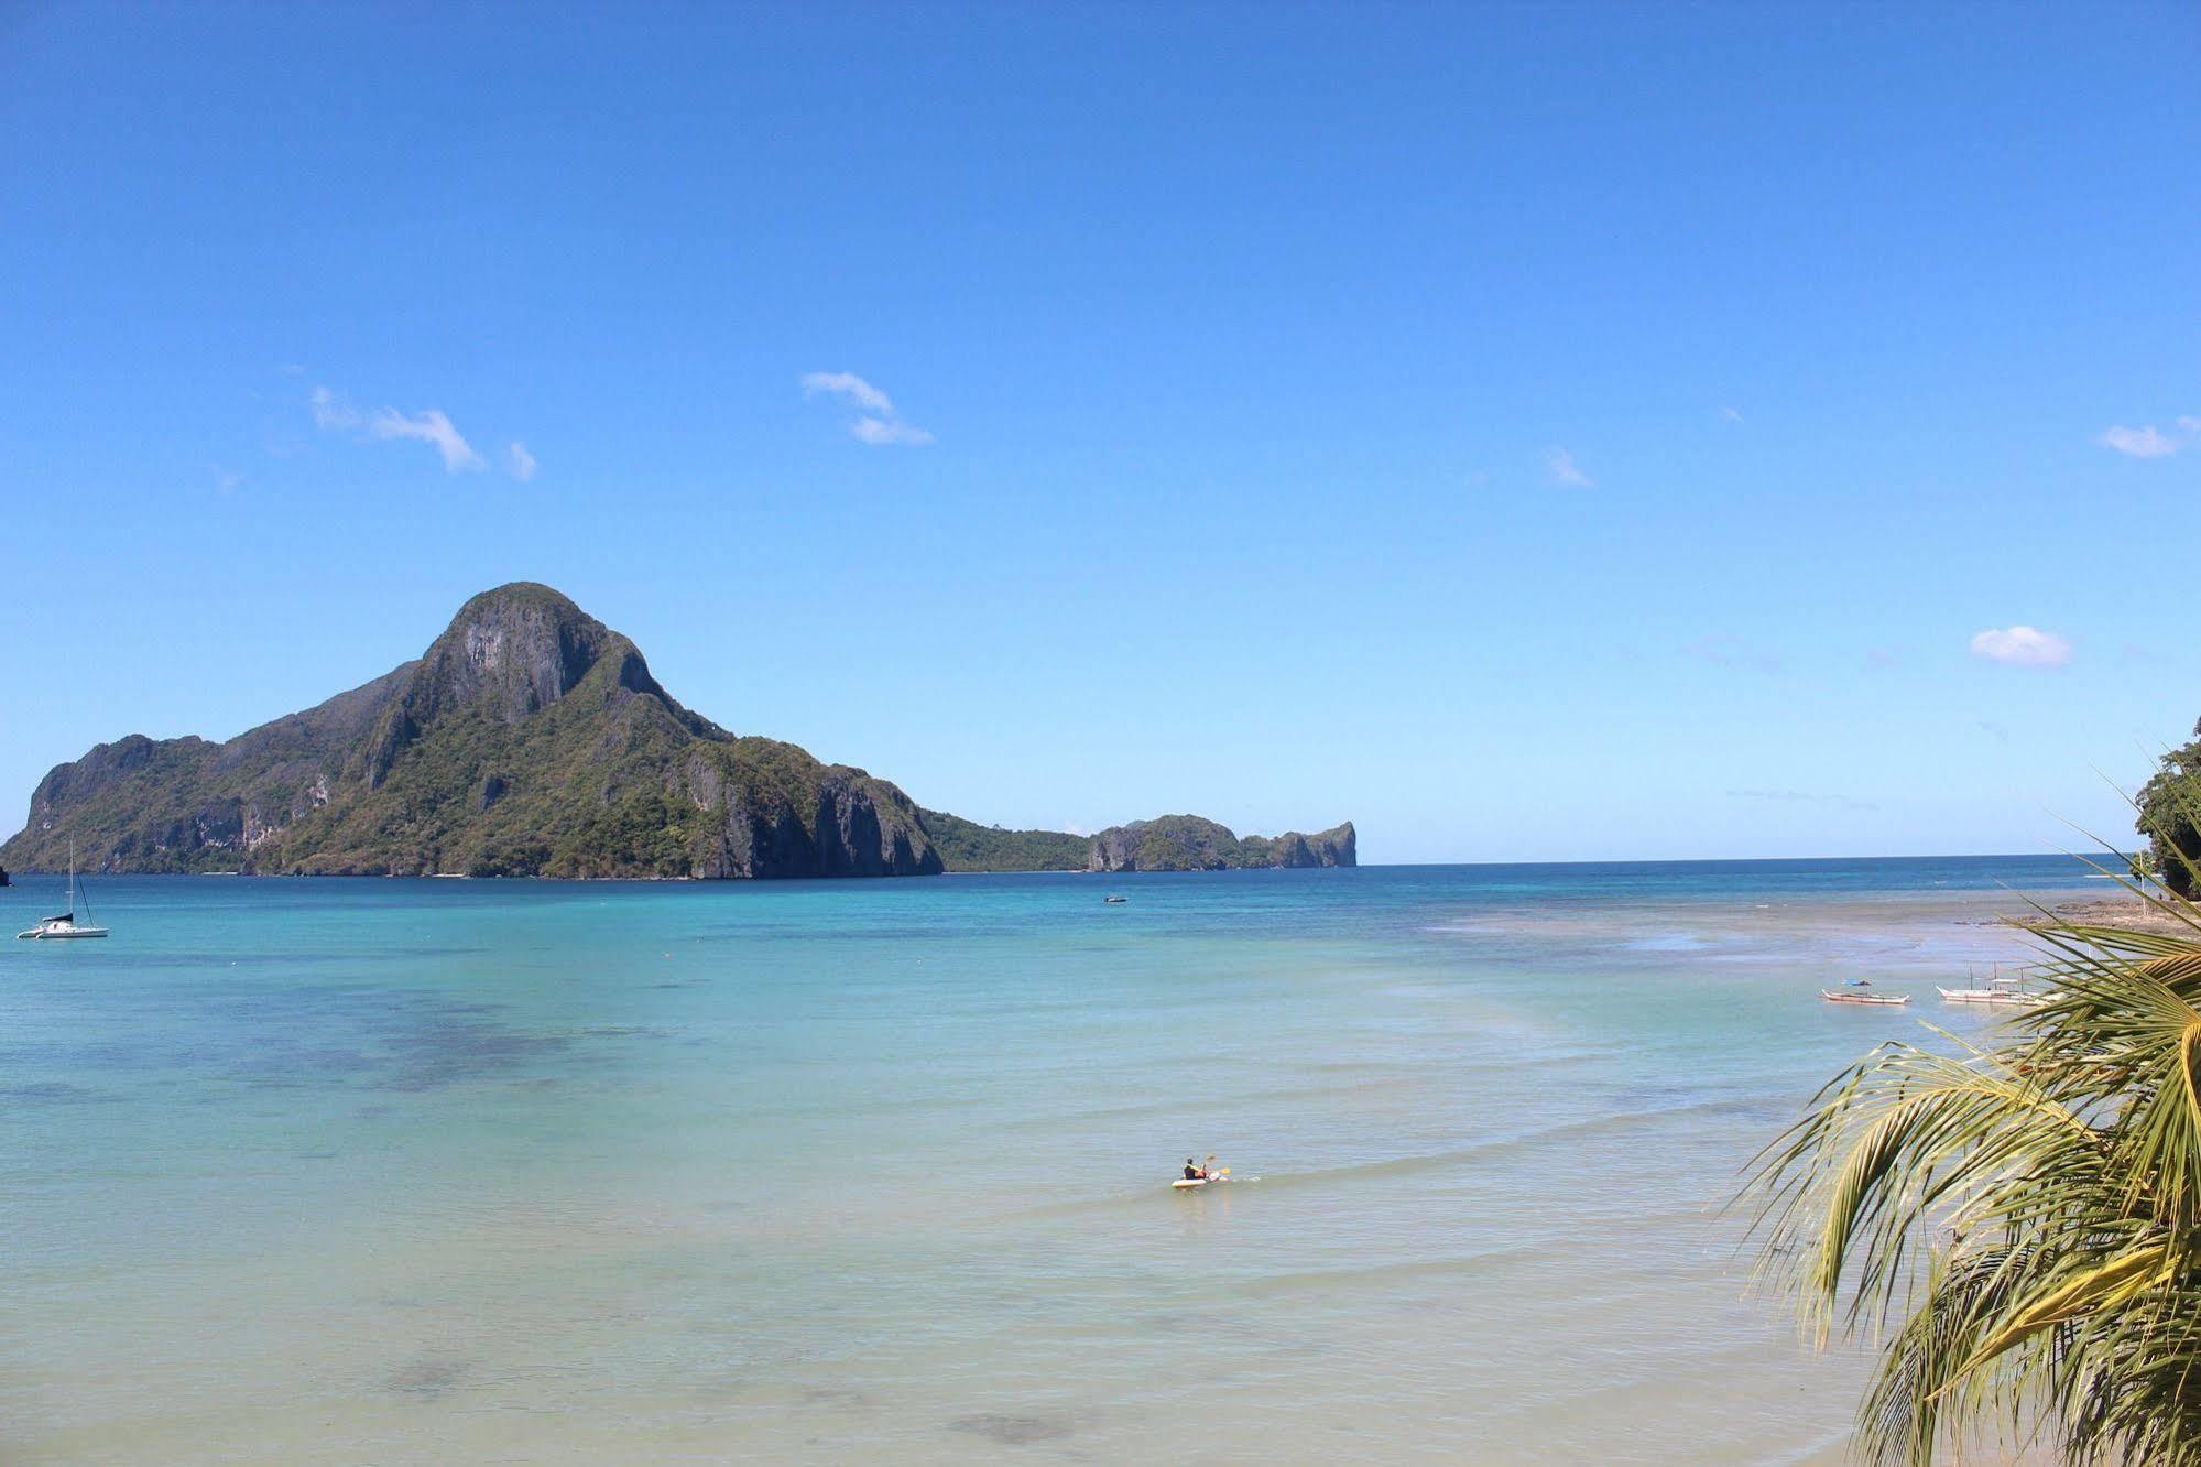
[{"label": "rocky green island with a domed peak on the horizon", "polygon": [[920,808],[863,769],[737,736],[548,586],[467,601],[427,652],[229,742],[132,734],[55,767],[18,870],[330,877],[922,877],[1354,866],[1351,822],[1237,837],[1197,815],[1098,835]]}]

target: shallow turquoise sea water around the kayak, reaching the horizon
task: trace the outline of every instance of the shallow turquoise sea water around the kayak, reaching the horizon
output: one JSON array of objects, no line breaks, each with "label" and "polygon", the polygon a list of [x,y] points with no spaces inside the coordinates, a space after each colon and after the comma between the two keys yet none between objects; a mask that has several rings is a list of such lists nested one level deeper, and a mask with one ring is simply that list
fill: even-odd
[{"label": "shallow turquoise sea water around the kayak, reaching the horizon", "polygon": [[2087,885],[99,881],[0,945],[0,1458],[1829,1458],[1710,1205]]}]

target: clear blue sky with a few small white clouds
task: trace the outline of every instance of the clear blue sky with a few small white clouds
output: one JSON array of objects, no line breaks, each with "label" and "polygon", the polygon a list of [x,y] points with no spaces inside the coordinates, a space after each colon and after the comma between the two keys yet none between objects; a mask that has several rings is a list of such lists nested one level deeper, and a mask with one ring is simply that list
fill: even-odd
[{"label": "clear blue sky with a few small white clouds", "polygon": [[2194,75],[2183,4],[9,7],[0,817],[544,579],[988,822],[2122,835]]}]

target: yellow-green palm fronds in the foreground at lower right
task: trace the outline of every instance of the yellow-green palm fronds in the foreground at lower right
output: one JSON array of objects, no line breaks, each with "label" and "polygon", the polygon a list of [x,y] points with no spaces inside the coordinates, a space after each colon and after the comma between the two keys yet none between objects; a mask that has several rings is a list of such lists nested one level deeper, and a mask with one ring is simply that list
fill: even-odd
[{"label": "yellow-green palm fronds in the foreground at lower right", "polygon": [[2201,908],[2131,890],[2168,934],[2043,914],[2001,1042],[1884,1044],[1759,1156],[1763,1275],[1880,1333],[1869,1460],[2201,1465]]}]

